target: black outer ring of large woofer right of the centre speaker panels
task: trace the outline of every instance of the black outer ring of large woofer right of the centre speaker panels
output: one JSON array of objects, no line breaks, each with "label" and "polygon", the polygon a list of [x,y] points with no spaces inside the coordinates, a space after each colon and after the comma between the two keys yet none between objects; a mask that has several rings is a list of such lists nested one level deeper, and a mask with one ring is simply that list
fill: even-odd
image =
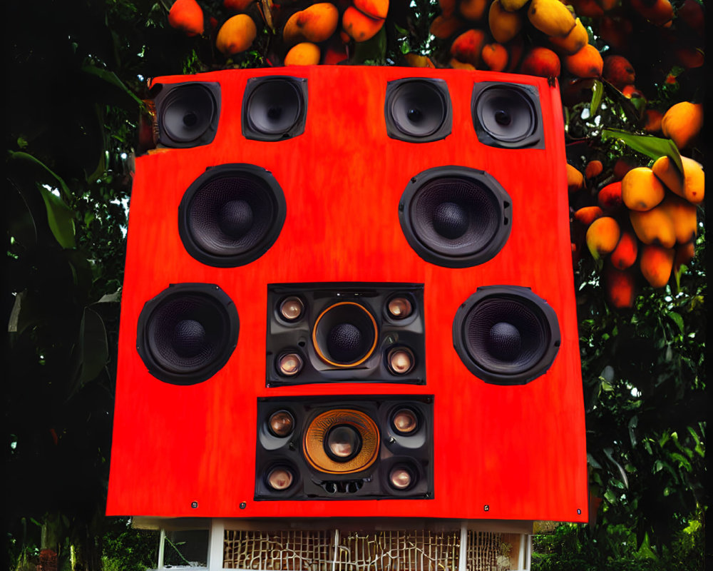
[{"label": "black outer ring of large woofer right of the centre speaker panels", "polygon": [[[471,355],[470,350],[468,350],[466,342],[468,315],[476,308],[478,303],[486,298],[516,300],[520,303],[524,303],[528,305],[529,308],[535,308],[535,310],[540,313],[540,317],[544,323],[548,325],[550,339],[542,355],[540,355],[540,358],[528,369],[512,375],[496,373],[479,365],[477,360]],[[473,375],[493,385],[525,385],[535,380],[535,378],[540,377],[540,375],[547,372],[554,362],[560,349],[560,343],[560,325],[555,310],[547,301],[533,293],[530,288],[525,288],[520,285],[483,285],[458,308],[456,317],[453,318],[453,348],[456,349],[458,357],[461,358],[463,365],[466,365],[466,368],[468,368]]]}]

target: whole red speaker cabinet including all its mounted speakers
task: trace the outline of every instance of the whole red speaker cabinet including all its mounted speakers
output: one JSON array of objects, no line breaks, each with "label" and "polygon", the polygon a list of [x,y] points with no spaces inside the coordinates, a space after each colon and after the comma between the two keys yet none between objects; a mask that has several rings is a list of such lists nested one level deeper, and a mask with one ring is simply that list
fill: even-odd
[{"label": "whole red speaker cabinet including all its mounted speakers", "polygon": [[109,515],[588,520],[556,86],[316,66],[153,94]]}]

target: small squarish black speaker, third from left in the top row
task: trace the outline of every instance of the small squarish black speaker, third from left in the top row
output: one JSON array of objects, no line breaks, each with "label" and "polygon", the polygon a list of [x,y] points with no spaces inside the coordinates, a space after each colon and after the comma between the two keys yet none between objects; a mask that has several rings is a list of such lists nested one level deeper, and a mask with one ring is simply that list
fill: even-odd
[{"label": "small squarish black speaker, third from left in the top row", "polygon": [[410,143],[429,143],[451,134],[453,111],[443,79],[405,78],[386,84],[386,133]]}]

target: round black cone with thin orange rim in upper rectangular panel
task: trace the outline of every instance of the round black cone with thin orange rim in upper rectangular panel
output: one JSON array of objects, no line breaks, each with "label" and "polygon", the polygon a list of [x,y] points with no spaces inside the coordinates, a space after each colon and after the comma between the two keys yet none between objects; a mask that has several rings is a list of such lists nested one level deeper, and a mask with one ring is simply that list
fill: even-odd
[{"label": "round black cone with thin orange rim in upper rectangular panel", "polygon": [[312,328],[312,343],[324,363],[356,367],[374,353],[378,333],[369,310],[353,301],[340,301],[319,314]]}]

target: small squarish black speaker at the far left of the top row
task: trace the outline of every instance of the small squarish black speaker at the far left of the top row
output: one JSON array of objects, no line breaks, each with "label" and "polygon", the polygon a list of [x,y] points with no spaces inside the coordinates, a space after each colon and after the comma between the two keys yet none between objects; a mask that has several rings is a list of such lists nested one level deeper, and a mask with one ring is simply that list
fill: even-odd
[{"label": "small squarish black speaker at the far left of the top row", "polygon": [[158,85],[154,97],[158,142],[167,147],[207,145],[217,132],[220,85],[186,82]]}]

